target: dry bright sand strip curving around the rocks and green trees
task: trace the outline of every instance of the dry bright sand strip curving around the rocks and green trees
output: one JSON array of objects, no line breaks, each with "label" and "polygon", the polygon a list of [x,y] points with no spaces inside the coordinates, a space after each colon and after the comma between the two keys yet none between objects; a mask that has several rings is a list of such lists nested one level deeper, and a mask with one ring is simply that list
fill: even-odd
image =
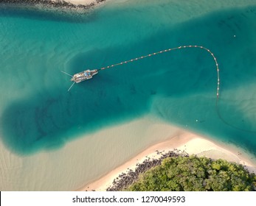
[{"label": "dry bright sand strip curving around the rocks and green trees", "polygon": [[215,160],[224,159],[245,166],[250,173],[256,172],[256,160],[253,162],[253,158],[249,157],[249,154],[246,154],[243,149],[224,143],[216,143],[208,138],[184,132],[182,135],[176,135],[167,141],[149,146],[148,149],[136,154],[131,160],[77,191],[106,191],[121,174],[127,173],[129,170],[134,171],[137,164],[141,164],[145,160],[159,159],[162,154],[167,154],[170,151],[186,152],[187,154],[196,154],[198,157],[204,156]]}]

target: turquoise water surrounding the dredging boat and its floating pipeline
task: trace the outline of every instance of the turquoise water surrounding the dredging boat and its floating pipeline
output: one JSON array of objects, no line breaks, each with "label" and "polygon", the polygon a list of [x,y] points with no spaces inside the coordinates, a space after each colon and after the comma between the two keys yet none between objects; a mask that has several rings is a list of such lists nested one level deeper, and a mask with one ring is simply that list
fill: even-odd
[{"label": "turquoise water surrounding the dredging boat and its floating pipeline", "polygon": [[[60,149],[77,135],[151,113],[171,124],[256,152],[256,7],[218,10],[189,21],[165,7],[102,7],[83,17],[1,9],[1,138],[17,154]],[[170,2],[169,2],[170,3]],[[234,37],[235,35],[235,37]],[[129,60],[71,85],[61,70]],[[220,116],[218,116],[218,112]]]}]

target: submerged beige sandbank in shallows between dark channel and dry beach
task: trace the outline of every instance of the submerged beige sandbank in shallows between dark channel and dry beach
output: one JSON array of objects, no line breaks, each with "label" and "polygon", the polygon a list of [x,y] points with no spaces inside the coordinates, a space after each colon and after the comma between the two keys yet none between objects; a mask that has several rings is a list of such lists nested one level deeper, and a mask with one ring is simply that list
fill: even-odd
[{"label": "submerged beige sandbank in shallows between dark channel and dry beach", "polygon": [[[0,191],[74,191],[180,129],[151,116],[101,129],[54,151],[20,156],[0,143]],[[69,134],[67,134],[67,137]]]}]

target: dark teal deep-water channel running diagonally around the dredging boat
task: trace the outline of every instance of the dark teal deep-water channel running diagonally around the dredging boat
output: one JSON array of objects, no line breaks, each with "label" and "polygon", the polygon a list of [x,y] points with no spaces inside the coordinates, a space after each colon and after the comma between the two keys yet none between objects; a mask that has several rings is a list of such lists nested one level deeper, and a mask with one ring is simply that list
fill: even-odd
[{"label": "dark teal deep-water channel running diagonally around the dredging boat", "polygon": [[[248,35],[249,29],[256,25],[253,11],[253,8],[243,8],[212,13],[165,29],[141,42],[81,51],[69,61],[67,72],[74,74],[81,68],[100,68],[162,49],[197,44],[211,49],[218,59],[222,95],[222,90],[255,81],[256,63],[248,55],[255,52],[252,48],[255,37]],[[253,20],[250,21],[252,24],[248,23],[248,18]],[[232,38],[234,34],[235,39]],[[236,54],[238,46],[240,50]],[[241,73],[236,70],[238,68],[244,68],[245,72]],[[63,81],[66,80],[69,77],[63,77]],[[66,82],[63,85],[66,86]],[[153,110],[165,121],[184,128],[189,125],[191,130],[206,135],[211,133],[225,141],[246,143],[246,148],[255,151],[255,135],[227,126],[215,111],[215,63],[206,51],[172,51],[102,71],[94,79],[75,85],[69,93],[67,88],[52,88],[51,95],[47,91],[33,93],[27,99],[10,104],[1,116],[1,138],[6,146],[19,154],[55,149],[75,138],[75,134],[95,132]],[[193,95],[200,99],[184,100]],[[166,101],[168,104],[165,104],[163,101],[155,107],[152,100],[157,97],[184,101],[182,104],[179,101]],[[224,118],[235,110],[225,110],[223,106],[221,104]],[[237,110],[235,113],[243,116]],[[199,122],[196,122],[197,118]],[[234,119],[232,124],[239,127],[239,121]],[[251,122],[243,121],[242,127],[246,125],[251,127]]]}]

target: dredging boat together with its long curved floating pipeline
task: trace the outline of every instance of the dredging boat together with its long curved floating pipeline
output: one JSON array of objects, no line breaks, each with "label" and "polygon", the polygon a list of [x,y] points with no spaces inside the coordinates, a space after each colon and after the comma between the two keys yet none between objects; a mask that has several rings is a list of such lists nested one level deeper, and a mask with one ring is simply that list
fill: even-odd
[{"label": "dredging boat together with its long curved floating pipeline", "polygon": [[178,46],[178,47],[174,47],[174,48],[170,48],[170,49],[165,49],[165,50],[162,50],[162,51],[157,51],[157,52],[145,55],[145,56],[136,57],[134,59],[126,60],[126,61],[123,61],[123,62],[120,62],[120,63],[108,65],[108,66],[105,66],[105,67],[102,67],[102,68],[99,68],[99,69],[81,71],[80,73],[77,73],[77,74],[74,74],[74,75],[67,74],[65,71],[62,71],[62,72],[64,74],[67,74],[70,77],[72,77],[71,81],[73,82],[73,84],[69,88],[69,90],[70,90],[75,83],[79,83],[79,82],[83,82],[85,80],[91,79],[92,76],[97,74],[99,71],[102,71],[102,70],[105,70],[105,69],[108,69],[108,68],[114,68],[114,67],[116,67],[118,65],[124,65],[124,64],[131,63],[131,62],[134,62],[134,61],[137,61],[137,60],[142,60],[142,59],[147,58],[147,57],[153,57],[153,56],[155,56],[157,54],[162,54],[162,53],[169,52],[169,51],[175,51],[175,50],[178,50],[178,49],[188,49],[188,48],[204,49],[205,51],[207,51],[208,53],[211,54],[213,60],[215,61],[215,69],[216,69],[216,73],[217,73],[217,87],[216,87],[216,103],[215,103],[215,108],[216,108],[216,112],[218,114],[218,117],[221,119],[221,121],[223,121],[224,124],[228,125],[229,127],[233,127],[235,129],[239,129],[239,130],[244,131],[244,132],[256,133],[255,131],[251,131],[251,130],[247,130],[247,129],[241,129],[241,128],[236,127],[236,126],[234,126],[232,124],[229,124],[229,122],[227,122],[224,118],[222,118],[221,113],[218,110],[218,100],[219,100],[219,96],[220,96],[220,84],[221,84],[220,83],[220,81],[221,81],[220,80],[220,69],[218,67],[218,62],[217,62],[217,59],[216,59],[215,55],[212,53],[212,51],[210,51],[210,49],[207,49],[204,46],[198,46],[198,45]]}]

